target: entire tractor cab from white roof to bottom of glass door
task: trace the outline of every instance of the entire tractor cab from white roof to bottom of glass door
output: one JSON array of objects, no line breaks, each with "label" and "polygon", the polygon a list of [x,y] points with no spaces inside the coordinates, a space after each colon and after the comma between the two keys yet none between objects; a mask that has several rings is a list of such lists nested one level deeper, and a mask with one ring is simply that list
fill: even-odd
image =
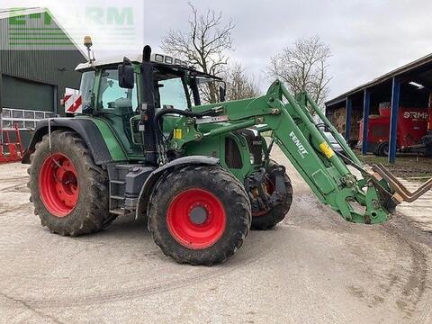
[{"label": "entire tractor cab from white roof to bottom of glass door", "polygon": [[[143,116],[147,107],[152,106],[154,113],[167,108],[187,111],[202,103],[202,89],[210,83],[223,84],[217,76],[161,54],[151,54],[148,62],[152,67],[151,76],[144,77],[142,61],[139,55],[131,59],[90,60],[76,67],[76,71],[82,73],[79,89],[82,114],[108,121],[127,154],[137,157],[142,155],[144,139],[148,138],[140,131],[140,127],[144,127],[141,123],[148,118]],[[220,87],[220,100],[223,100],[223,92]],[[148,100],[148,96],[152,100]],[[169,115],[165,120],[169,122]]]}]

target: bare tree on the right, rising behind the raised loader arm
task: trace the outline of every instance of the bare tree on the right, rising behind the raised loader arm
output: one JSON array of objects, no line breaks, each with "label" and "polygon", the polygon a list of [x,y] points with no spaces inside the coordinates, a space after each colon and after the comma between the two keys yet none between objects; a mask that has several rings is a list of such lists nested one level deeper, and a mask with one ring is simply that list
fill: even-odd
[{"label": "bare tree on the right, rising behind the raised loader arm", "polygon": [[270,58],[267,72],[284,81],[290,91],[307,91],[318,105],[329,95],[329,46],[319,36],[296,40],[293,46]]}]

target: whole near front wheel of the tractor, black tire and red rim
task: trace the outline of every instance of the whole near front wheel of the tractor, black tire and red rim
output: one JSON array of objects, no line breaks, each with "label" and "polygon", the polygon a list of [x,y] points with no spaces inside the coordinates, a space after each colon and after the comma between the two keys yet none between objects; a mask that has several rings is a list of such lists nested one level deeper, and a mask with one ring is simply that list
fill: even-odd
[{"label": "whole near front wheel of the tractor, black tire and red rim", "polygon": [[148,229],[179,263],[224,262],[243,243],[250,202],[238,180],[219,166],[187,166],[164,176],[148,205]]}]

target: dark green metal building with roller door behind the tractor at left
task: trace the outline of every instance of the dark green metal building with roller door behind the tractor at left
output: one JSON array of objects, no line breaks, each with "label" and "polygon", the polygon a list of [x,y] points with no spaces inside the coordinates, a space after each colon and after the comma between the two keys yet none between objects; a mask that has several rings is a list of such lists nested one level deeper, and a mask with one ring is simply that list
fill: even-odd
[{"label": "dark green metal building with roller door behind the tractor at left", "polygon": [[[63,115],[60,99],[78,89],[84,53],[46,8],[0,9],[0,130],[15,125],[27,145],[36,121]],[[1,140],[1,139],[0,139]]]}]

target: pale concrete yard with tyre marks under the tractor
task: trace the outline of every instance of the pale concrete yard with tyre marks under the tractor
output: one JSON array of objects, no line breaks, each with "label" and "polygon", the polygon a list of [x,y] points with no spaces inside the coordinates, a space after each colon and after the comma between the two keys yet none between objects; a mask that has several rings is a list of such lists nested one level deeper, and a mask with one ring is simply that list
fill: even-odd
[{"label": "pale concrete yard with tyre marks under the tractor", "polygon": [[432,236],[412,226],[410,207],[383,225],[347,223],[279,150],[273,157],[293,179],[292,210],[212,267],[175,264],[143,220],[80,238],[50,234],[33,214],[26,166],[1,165],[0,322],[432,322]]}]

